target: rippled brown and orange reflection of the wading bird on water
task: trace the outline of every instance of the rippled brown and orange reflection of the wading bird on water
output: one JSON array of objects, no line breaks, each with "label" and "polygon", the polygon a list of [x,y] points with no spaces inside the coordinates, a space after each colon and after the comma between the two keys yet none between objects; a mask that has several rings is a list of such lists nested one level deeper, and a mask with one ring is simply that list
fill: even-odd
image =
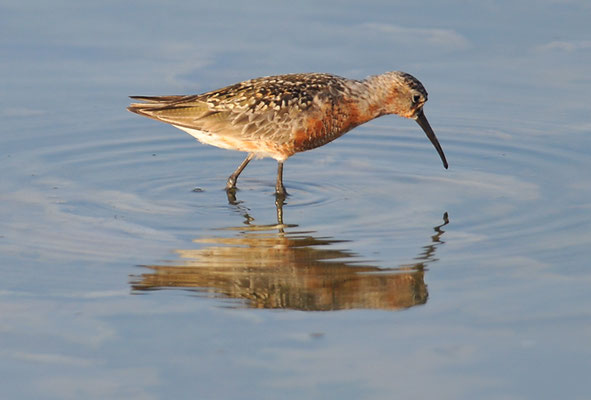
[{"label": "rippled brown and orange reflection of the wading bird on water", "polygon": [[360,263],[357,254],[341,247],[346,241],[284,224],[282,198],[273,225],[253,224],[233,194],[228,199],[245,219],[243,226],[225,228],[236,234],[194,240],[204,247],[177,250],[182,261],[176,265],[143,266],[150,271],[132,278],[133,290],[179,288],[239,299],[252,308],[308,311],[398,310],[427,301],[425,266],[436,261],[435,251],[444,243],[447,213],[414,263],[380,268]]}]

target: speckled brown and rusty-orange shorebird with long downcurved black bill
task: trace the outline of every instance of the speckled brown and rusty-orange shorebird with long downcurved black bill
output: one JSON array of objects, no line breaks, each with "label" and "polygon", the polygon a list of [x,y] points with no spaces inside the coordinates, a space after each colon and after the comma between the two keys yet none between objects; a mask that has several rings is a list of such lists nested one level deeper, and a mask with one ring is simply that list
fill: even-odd
[{"label": "speckled brown and rusty-orange shorebird with long downcurved black bill", "polygon": [[414,76],[386,72],[362,81],[330,74],[268,76],[188,96],[131,96],[134,113],[171,124],[198,141],[248,152],[230,175],[227,191],[236,189],[242,170],[254,157],[277,160],[275,193],[285,196],[283,163],[322,146],[367,121],[386,114],[414,119],[447,168],[441,145],[423,105],[427,91]]}]

